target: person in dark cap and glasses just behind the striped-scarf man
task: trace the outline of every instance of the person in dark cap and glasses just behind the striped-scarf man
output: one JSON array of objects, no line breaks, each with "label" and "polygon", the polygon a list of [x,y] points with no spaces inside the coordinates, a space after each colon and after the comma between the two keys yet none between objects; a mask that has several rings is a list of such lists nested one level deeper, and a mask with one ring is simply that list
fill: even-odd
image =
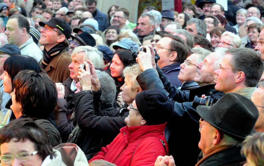
[{"label": "person in dark cap and glasses just behind the striped-scarf man", "polygon": [[89,33],[83,32],[75,37],[70,35],[72,40],[70,41],[69,53],[72,54],[73,50],[78,46],[95,46],[96,41]]}]

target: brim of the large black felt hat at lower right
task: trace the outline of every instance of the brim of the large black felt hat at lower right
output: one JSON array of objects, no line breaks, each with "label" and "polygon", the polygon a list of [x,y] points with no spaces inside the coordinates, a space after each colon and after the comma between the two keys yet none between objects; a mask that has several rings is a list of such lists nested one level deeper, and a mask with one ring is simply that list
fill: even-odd
[{"label": "brim of the large black felt hat at lower right", "polygon": [[235,139],[238,140],[244,140],[245,137],[241,137],[239,135],[230,133],[229,131],[227,131],[226,129],[223,129],[221,127],[219,127],[219,125],[216,122],[216,117],[214,117],[214,114],[212,114],[212,111],[210,109],[210,106],[205,106],[205,105],[199,105],[196,107],[197,113],[200,115],[200,117],[202,117],[206,122],[208,122],[209,124],[211,124],[212,126],[214,126],[215,128],[223,131],[225,134],[229,135],[230,137],[233,137]]}]

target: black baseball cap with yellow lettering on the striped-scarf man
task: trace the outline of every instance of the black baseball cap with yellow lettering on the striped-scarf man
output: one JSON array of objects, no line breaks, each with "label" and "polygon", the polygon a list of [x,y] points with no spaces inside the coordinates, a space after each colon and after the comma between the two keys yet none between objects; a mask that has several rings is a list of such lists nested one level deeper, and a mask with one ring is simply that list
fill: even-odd
[{"label": "black baseball cap with yellow lettering on the striped-scarf man", "polygon": [[51,18],[48,22],[40,21],[39,25],[41,27],[48,25],[50,27],[58,28],[60,31],[62,31],[67,39],[70,38],[70,34],[72,33],[72,28],[70,28],[70,25],[63,19],[57,17]]}]

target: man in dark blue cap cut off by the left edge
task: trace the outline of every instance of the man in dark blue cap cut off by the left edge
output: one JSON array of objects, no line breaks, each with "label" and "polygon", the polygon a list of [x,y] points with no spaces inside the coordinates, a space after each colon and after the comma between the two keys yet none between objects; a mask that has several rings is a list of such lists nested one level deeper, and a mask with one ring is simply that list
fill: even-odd
[{"label": "man in dark blue cap cut off by the left edge", "polygon": [[[0,74],[4,72],[4,62],[7,58],[12,55],[20,55],[20,49],[13,44],[5,44],[0,48]],[[4,120],[4,117],[8,111],[5,107],[6,103],[10,100],[10,94],[4,92],[3,80],[0,80],[0,103],[1,103],[1,111],[0,111],[0,121]]]}]

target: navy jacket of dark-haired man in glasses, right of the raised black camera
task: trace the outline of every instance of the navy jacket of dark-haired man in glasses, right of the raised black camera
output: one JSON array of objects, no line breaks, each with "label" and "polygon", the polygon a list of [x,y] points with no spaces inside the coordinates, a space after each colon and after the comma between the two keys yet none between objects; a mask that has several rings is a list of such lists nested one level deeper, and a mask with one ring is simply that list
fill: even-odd
[{"label": "navy jacket of dark-haired man in glasses, right of the raised black camera", "polygon": [[181,63],[172,63],[168,66],[164,66],[161,68],[165,76],[171,81],[171,84],[176,86],[177,88],[181,86],[181,81],[178,79],[178,75],[180,73],[180,65]]}]

